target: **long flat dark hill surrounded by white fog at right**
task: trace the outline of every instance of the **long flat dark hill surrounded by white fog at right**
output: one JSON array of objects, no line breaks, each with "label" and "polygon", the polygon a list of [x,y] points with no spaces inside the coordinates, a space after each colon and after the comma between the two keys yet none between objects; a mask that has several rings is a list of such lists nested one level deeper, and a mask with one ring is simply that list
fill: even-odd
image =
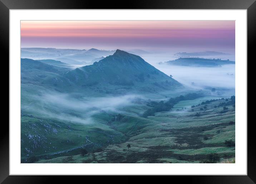
[{"label": "long flat dark hill surrounded by white fog at right", "polygon": [[[178,58],[176,60],[167,61],[164,63],[168,65],[178,65],[178,66],[217,67],[222,65],[235,64],[235,61],[189,57],[189,58]],[[162,62],[160,62],[159,64],[162,64]]]}]

